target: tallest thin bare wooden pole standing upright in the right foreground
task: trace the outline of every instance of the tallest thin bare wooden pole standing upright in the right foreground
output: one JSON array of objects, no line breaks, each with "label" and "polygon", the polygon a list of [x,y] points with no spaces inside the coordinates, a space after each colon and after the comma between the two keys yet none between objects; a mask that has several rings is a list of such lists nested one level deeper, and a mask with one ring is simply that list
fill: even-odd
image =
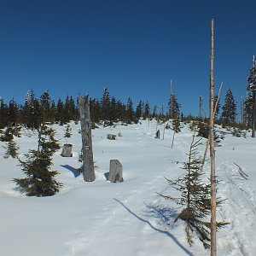
[{"label": "tallest thin bare wooden pole standing upright in the right foreground", "polygon": [[211,160],[211,256],[216,256],[216,175],[214,151],[214,81],[213,81],[213,39],[214,20],[211,28],[211,72],[210,72],[210,117],[209,117],[209,144]]}]

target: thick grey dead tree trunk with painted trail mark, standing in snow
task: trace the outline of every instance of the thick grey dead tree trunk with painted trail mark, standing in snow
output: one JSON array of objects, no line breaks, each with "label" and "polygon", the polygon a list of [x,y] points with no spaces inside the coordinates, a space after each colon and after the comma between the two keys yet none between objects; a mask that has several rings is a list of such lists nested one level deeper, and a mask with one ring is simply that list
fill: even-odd
[{"label": "thick grey dead tree trunk with painted trail mark, standing in snow", "polygon": [[90,105],[89,96],[79,96],[79,112],[81,123],[81,135],[82,135],[82,154],[83,154],[83,166],[82,172],[84,181],[92,182],[95,180],[93,152],[92,152],[92,140],[91,140],[91,128],[90,128]]}]

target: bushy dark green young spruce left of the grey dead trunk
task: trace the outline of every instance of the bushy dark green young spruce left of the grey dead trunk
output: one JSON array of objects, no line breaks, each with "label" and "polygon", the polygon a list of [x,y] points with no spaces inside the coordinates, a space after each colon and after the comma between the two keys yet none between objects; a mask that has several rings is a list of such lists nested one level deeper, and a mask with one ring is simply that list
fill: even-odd
[{"label": "bushy dark green young spruce left of the grey dead trunk", "polygon": [[26,154],[26,160],[20,160],[25,178],[15,178],[14,181],[22,192],[28,196],[55,195],[61,187],[61,183],[55,181],[56,171],[50,171],[52,157],[60,148],[55,140],[55,131],[47,125],[38,127],[38,149],[31,149]]}]

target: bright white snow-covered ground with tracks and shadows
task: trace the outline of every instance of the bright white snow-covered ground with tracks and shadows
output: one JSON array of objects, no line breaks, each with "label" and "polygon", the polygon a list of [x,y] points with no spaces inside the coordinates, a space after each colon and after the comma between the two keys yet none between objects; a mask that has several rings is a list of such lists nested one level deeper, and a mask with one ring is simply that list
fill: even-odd
[{"label": "bright white snow-covered ground with tracks and shadows", "polygon": [[[16,159],[4,159],[0,147],[0,254],[4,256],[179,256],[209,255],[196,239],[189,247],[183,221],[175,204],[156,192],[178,195],[164,177],[182,176],[181,164],[191,143],[192,131],[184,126],[175,137],[167,130],[165,139],[155,139],[155,121],[142,125],[117,125],[93,130],[96,181],[85,183],[77,176],[81,137],[79,125],[71,124],[72,137],[66,142],[65,126],[55,125],[56,137],[73,144],[73,157],[55,154],[53,170],[63,183],[51,197],[27,197],[15,190],[14,177],[24,177]],[[15,138],[19,154],[36,148],[37,136]],[[108,140],[107,133],[118,134]],[[205,143],[205,140],[203,141]],[[5,143],[0,143],[4,146]],[[201,145],[199,151],[204,151]],[[256,255],[256,139],[225,135],[216,148],[218,195],[226,199],[218,208],[218,220],[229,221],[217,234],[218,255]],[[106,181],[109,160],[118,159],[124,169],[124,183]],[[239,174],[241,166],[247,180]],[[205,166],[209,177],[209,163]]]}]

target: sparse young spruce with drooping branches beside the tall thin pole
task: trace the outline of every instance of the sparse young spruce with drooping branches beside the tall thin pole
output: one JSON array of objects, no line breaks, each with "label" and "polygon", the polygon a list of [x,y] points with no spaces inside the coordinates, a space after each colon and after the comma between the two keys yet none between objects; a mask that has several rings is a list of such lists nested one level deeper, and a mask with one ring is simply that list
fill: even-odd
[{"label": "sparse young spruce with drooping branches beside the tall thin pole", "polygon": [[[191,246],[193,243],[193,233],[195,232],[204,247],[209,247],[210,240],[210,223],[206,218],[211,212],[211,185],[203,183],[201,171],[202,159],[198,157],[197,147],[201,144],[201,140],[195,142],[195,134],[189,147],[189,160],[183,162],[183,170],[186,173],[177,180],[167,179],[173,189],[180,191],[180,197],[172,197],[172,195],[161,195],[166,200],[174,201],[177,205],[183,207],[182,211],[177,215],[177,219],[182,219],[186,223],[185,232],[187,241]],[[226,223],[218,223],[222,226]]]}]

